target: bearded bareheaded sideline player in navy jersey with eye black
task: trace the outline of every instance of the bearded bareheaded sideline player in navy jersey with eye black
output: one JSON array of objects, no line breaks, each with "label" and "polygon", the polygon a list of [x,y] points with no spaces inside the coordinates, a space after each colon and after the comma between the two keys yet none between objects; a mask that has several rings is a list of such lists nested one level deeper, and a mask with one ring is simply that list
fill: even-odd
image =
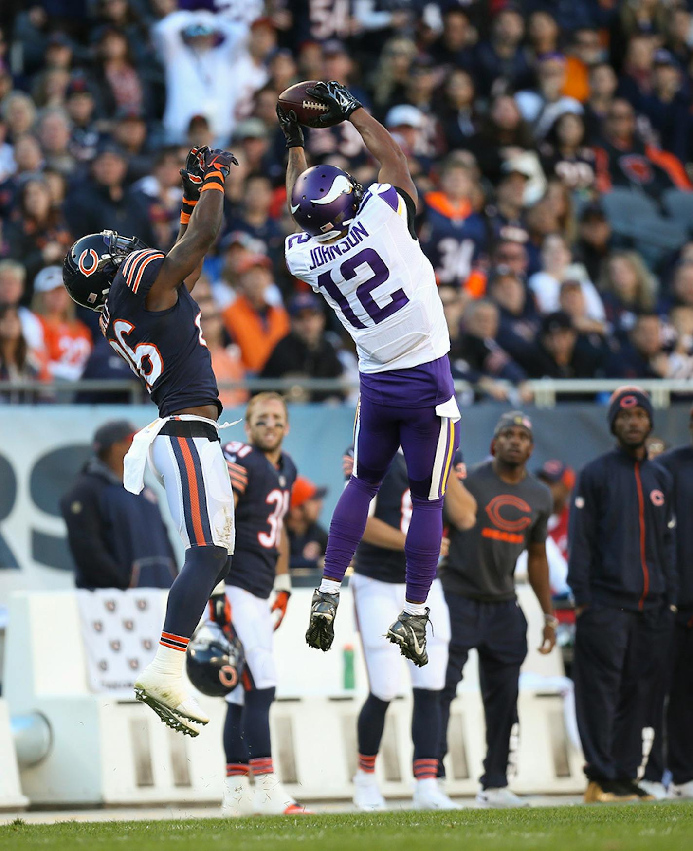
[{"label": "bearded bareheaded sideline player in navy jersey with eye black", "polygon": [[272,634],[286,614],[291,593],[284,517],[296,467],[281,451],[288,430],[287,405],[281,396],[259,393],[247,406],[248,443],[224,446],[236,505],[236,551],[226,577],[225,598],[219,600],[222,585],[215,589],[211,608],[213,620],[241,640],[246,657],[243,688],[236,688],[226,699],[226,815],[305,812],[277,778],[270,746],[270,706],[276,688]]}]

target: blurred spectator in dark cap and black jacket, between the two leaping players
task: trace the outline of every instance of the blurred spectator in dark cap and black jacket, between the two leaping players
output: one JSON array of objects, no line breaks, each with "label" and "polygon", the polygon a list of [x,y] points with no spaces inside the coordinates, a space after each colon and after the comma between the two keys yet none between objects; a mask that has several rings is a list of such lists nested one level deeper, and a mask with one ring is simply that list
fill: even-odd
[{"label": "blurred spectator in dark cap and black jacket, between the two leaping players", "polygon": [[344,398],[334,391],[304,391],[303,379],[339,378],[344,367],[325,334],[325,313],[313,293],[300,293],[288,304],[291,331],[280,340],[260,374],[261,378],[296,379],[293,402],[325,402]]}]

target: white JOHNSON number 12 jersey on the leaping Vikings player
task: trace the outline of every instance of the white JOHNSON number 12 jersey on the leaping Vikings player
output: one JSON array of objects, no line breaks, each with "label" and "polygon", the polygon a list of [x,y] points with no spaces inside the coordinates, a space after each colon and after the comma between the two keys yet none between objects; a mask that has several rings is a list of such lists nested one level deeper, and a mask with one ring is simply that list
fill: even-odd
[{"label": "white JOHNSON number 12 jersey on the leaping Vikings player", "polygon": [[433,266],[393,186],[364,193],[343,239],[294,233],[285,253],[289,271],[325,297],[354,338],[362,373],[415,367],[450,350]]}]

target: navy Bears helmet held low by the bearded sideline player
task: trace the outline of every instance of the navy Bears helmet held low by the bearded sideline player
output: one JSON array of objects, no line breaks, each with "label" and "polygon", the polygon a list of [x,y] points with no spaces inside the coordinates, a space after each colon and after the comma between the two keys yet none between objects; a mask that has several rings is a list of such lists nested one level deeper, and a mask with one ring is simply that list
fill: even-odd
[{"label": "navy Bears helmet held low by the bearded sideline player", "polygon": [[224,697],[236,688],[245,661],[240,640],[227,635],[213,622],[200,627],[185,651],[185,670],[190,683],[210,697]]}]

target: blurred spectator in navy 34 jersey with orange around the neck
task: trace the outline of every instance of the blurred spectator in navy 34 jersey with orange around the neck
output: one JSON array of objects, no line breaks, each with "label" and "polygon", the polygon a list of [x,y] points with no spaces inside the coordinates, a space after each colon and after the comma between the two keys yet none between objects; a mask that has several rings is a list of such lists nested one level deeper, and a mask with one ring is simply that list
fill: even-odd
[{"label": "blurred spectator in navy 34 jersey with orange around the neck", "polygon": [[484,220],[472,208],[472,174],[454,160],[446,161],[440,191],[424,197],[423,250],[439,283],[463,286],[486,243]]}]

